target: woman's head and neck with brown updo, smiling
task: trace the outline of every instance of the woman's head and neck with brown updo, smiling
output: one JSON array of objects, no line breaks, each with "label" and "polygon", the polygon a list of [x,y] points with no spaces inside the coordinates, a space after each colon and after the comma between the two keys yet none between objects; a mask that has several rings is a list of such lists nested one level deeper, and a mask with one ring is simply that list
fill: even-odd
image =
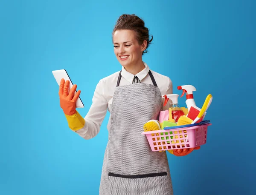
[{"label": "woman's head and neck with brown updo, smiling", "polygon": [[141,56],[147,53],[149,40],[148,28],[136,15],[123,14],[113,29],[114,52],[117,60],[128,72],[136,74],[144,69]]}]

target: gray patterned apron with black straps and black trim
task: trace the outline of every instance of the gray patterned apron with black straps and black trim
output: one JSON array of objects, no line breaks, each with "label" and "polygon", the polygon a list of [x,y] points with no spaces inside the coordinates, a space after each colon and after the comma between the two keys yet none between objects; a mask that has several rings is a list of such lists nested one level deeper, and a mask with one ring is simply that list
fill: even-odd
[{"label": "gray patterned apron with black straps and black trim", "polygon": [[159,117],[161,93],[154,85],[119,86],[113,95],[111,131],[102,167],[99,195],[173,195],[166,152],[153,152],[143,125]]}]

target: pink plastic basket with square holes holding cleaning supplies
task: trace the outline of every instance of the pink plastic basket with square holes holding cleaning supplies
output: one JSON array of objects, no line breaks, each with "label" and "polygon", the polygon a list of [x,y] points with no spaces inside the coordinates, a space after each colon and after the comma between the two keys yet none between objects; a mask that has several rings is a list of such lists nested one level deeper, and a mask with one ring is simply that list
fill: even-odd
[{"label": "pink plastic basket with square holes holding cleaning supplies", "polygon": [[152,151],[195,148],[206,143],[207,127],[210,125],[212,124],[207,123],[192,127],[142,132],[142,134],[146,135]]}]

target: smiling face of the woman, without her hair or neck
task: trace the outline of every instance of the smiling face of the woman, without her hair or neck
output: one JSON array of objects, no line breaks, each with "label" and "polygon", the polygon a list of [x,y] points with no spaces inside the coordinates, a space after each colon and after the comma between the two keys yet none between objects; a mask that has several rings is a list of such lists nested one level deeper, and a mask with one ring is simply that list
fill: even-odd
[{"label": "smiling face of the woman, without her hair or neck", "polygon": [[145,43],[140,45],[131,30],[117,30],[113,34],[114,52],[122,66],[137,64],[142,60]]}]

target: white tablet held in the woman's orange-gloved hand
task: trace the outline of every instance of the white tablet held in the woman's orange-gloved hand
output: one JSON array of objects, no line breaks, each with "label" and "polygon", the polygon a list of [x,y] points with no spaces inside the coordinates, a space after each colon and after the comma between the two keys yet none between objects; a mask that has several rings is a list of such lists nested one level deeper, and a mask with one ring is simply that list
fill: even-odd
[{"label": "white tablet held in the woman's orange-gloved hand", "polygon": [[[64,78],[64,80],[69,80],[70,81],[70,86],[69,86],[69,90],[72,88],[73,83],[69,77],[69,75],[67,74],[67,71],[65,69],[61,69],[61,70],[54,70],[52,71],[53,76],[55,77],[55,80],[58,83],[58,86],[60,86],[61,84],[61,79]],[[76,91],[77,92],[77,91]],[[75,92],[75,94],[76,94]],[[81,100],[81,98],[79,97],[76,101],[76,108],[84,108],[84,104]]]}]

